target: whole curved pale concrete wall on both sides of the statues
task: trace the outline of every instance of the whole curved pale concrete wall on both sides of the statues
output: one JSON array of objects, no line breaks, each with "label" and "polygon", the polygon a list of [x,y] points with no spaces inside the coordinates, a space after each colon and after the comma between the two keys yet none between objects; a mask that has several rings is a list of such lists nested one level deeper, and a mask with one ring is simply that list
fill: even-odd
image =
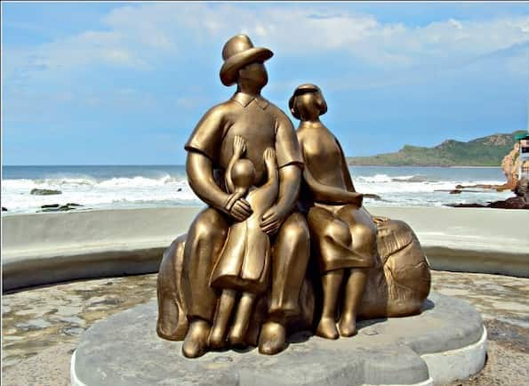
[{"label": "whole curved pale concrete wall on both sides of the statues", "polygon": [[[2,216],[3,291],[65,280],[156,272],[200,207]],[[408,222],[433,269],[529,277],[529,211],[376,207]]]}]

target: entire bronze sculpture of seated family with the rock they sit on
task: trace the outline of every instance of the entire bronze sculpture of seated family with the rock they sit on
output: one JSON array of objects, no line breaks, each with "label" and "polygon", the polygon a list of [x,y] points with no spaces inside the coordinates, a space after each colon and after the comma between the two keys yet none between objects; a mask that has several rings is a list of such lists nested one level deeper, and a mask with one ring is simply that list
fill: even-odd
[{"label": "entire bronze sculpture of seated family with the rock they sit on", "polygon": [[228,40],[220,80],[236,93],[204,114],[185,146],[189,185],[207,207],[164,253],[156,331],[184,340],[188,358],[246,345],[276,354],[287,334],[308,328],[352,336],[357,318],[421,312],[429,293],[413,230],[362,205],[340,142],[320,121],[321,90],[294,91],[297,133],[260,95],[271,56],[248,36]]}]

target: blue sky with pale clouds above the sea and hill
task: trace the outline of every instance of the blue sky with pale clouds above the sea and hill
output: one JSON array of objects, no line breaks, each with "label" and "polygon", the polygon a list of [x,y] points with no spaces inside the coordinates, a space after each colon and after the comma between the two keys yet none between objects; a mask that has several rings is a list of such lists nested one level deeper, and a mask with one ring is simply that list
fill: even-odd
[{"label": "blue sky with pale clouds above the sea and hill", "polygon": [[234,92],[219,69],[238,33],[275,52],[280,108],[320,85],[349,156],[527,125],[528,4],[3,2],[3,164],[183,164]]}]

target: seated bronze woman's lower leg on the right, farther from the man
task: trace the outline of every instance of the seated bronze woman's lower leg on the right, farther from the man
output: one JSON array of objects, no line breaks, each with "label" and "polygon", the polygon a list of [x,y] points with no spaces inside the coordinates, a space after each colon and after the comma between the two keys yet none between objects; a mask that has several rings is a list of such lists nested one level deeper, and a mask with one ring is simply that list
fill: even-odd
[{"label": "seated bronze woman's lower leg on the right, farther from the man", "polygon": [[351,269],[345,287],[341,318],[340,322],[338,322],[341,336],[357,334],[357,313],[364,295],[365,284],[367,283],[367,271],[368,269],[365,268]]}]

